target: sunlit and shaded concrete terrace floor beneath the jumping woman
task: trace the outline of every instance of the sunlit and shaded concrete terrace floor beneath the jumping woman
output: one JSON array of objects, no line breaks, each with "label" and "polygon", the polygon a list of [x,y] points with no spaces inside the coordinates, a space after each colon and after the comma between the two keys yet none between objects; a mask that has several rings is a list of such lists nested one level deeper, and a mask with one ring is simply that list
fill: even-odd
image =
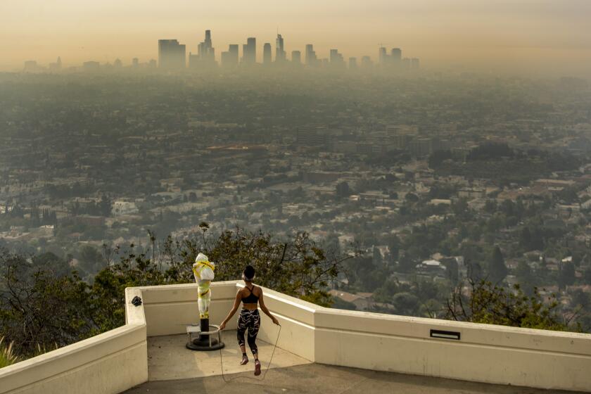
[{"label": "sunlit and shaded concrete terrace floor beneath the jumping woman", "polygon": [[147,383],[125,391],[128,394],[194,394],[194,393],[322,393],[322,394],[559,394],[559,390],[538,390],[514,386],[455,381],[369,371],[311,363],[286,350],[277,348],[271,369],[267,368],[273,345],[258,340],[262,361],[261,376],[253,376],[254,362],[239,365],[241,354],[236,344],[236,331],[224,331],[222,350],[224,381],[220,369],[220,352],[193,352],[184,348],[186,335],[148,338]]}]

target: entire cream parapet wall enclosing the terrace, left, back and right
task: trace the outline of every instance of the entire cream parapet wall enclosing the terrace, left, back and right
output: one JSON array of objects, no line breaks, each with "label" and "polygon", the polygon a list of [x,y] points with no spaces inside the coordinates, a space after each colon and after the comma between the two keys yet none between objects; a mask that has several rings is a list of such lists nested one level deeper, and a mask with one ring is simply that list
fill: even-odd
[{"label": "entire cream parapet wall enclosing the terrace, left, back and right", "polygon": [[[212,284],[212,323],[226,316],[241,286],[239,281]],[[131,305],[134,295],[143,305]],[[312,362],[591,391],[589,334],[334,310],[267,288],[264,296],[281,322],[279,347]],[[125,326],[0,369],[0,394],[110,394],[147,381],[146,336],[184,333],[186,324],[197,323],[197,286],[128,288],[126,298]],[[227,325],[235,328],[236,317]],[[274,343],[278,332],[262,314],[259,338]]]}]

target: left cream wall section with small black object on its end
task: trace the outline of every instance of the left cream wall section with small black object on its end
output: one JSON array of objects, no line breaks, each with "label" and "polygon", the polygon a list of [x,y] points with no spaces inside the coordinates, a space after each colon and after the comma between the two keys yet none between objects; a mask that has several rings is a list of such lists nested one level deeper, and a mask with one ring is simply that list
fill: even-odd
[{"label": "left cream wall section with small black object on its end", "polygon": [[146,323],[130,301],[127,324],[84,341],[0,369],[0,393],[120,393],[148,380]]}]

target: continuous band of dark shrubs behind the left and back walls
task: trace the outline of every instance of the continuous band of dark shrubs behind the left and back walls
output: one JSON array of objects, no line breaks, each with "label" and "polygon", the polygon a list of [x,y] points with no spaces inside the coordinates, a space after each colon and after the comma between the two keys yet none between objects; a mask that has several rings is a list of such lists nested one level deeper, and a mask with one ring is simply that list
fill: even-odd
[{"label": "continuous band of dark shrubs behind the left and back walls", "polygon": [[[217,235],[210,234],[207,223],[200,228],[201,236],[167,238],[158,248],[153,236],[147,253],[136,254],[130,245],[127,254],[96,274],[91,286],[76,272],[62,272],[67,262],[51,253],[34,256],[31,264],[0,250],[0,337],[14,342],[18,355],[30,356],[37,345],[68,345],[115,329],[125,324],[126,287],[193,282],[191,267],[199,252],[216,263],[218,281],[239,279],[250,264],[257,270],[257,284],[329,306],[329,281],[352,257],[320,248],[306,233],[277,240],[238,227]],[[83,255],[95,260],[95,252],[85,249]],[[105,246],[108,262],[118,253]]]}]

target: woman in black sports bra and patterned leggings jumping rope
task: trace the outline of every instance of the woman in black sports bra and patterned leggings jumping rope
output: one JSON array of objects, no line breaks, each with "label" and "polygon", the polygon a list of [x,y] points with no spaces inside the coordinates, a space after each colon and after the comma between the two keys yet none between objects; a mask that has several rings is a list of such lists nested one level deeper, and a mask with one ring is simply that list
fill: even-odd
[{"label": "woman in black sports bra and patterned leggings jumping rope", "polygon": [[244,345],[244,333],[246,332],[246,329],[248,329],[248,347],[250,348],[250,351],[253,352],[253,357],[255,358],[255,376],[259,376],[260,361],[258,360],[256,340],[260,327],[260,314],[257,309],[257,303],[260,303],[260,309],[271,318],[274,324],[279,324],[279,322],[265,306],[265,301],[262,298],[262,288],[253,284],[254,279],[255,269],[248,265],[242,273],[242,280],[245,282],[246,286],[236,293],[234,306],[222,324],[220,324],[220,329],[223,330],[226,328],[226,323],[232,318],[232,316],[234,316],[234,313],[236,313],[236,310],[238,310],[240,302],[242,301],[242,310],[238,317],[238,329],[236,329],[238,344],[240,345],[240,350],[242,350],[242,361],[240,364],[244,365],[248,362],[246,346]]}]

